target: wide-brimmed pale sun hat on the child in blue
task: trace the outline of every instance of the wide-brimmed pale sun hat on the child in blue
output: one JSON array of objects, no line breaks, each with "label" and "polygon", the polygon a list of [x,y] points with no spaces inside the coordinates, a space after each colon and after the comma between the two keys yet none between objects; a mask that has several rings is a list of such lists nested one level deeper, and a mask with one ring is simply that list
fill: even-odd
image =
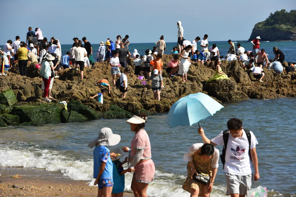
[{"label": "wide-brimmed pale sun hat on the child in blue", "polygon": [[114,146],[120,142],[120,135],[113,134],[112,130],[108,127],[104,127],[99,132],[99,137],[91,141],[88,146],[90,148],[94,146]]}]

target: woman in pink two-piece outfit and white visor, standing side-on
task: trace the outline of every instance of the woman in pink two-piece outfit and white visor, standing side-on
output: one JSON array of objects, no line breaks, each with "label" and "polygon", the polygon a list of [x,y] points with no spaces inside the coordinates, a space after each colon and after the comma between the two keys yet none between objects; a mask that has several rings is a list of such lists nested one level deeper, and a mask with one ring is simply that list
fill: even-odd
[{"label": "woman in pink two-piece outfit and white visor, standing side-on", "polygon": [[133,115],[126,123],[131,125],[131,131],[135,132],[131,141],[131,148],[123,147],[124,152],[130,152],[131,164],[128,168],[135,169],[131,189],[135,197],[147,197],[146,190],[153,181],[155,174],[154,162],[151,159],[151,146],[147,132],[143,129],[147,120],[146,113]]}]

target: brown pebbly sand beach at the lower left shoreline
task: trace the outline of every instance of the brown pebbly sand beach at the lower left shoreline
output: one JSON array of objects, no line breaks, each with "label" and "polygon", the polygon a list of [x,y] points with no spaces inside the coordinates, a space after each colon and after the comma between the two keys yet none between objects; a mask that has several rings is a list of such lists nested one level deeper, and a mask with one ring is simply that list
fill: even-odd
[{"label": "brown pebbly sand beach at the lower left shoreline", "polygon": [[[48,180],[4,172],[0,176],[0,196],[97,196],[97,187],[89,186],[86,181]],[[133,195],[125,193],[123,196]]]}]

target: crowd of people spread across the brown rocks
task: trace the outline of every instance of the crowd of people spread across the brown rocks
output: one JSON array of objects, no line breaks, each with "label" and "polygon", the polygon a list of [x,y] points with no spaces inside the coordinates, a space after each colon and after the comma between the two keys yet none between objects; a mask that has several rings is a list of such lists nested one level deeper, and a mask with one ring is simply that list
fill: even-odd
[{"label": "crowd of people spread across the brown rocks", "polygon": [[[53,99],[53,97],[50,96],[50,89],[52,88],[53,80],[59,78],[58,73],[61,68],[75,69],[77,71],[79,68],[80,79],[83,80],[84,67],[91,68],[91,66],[94,65],[94,59],[96,59],[97,62],[105,61],[106,66],[111,66],[111,85],[116,86],[116,82],[118,81],[117,87],[121,92],[121,99],[126,97],[128,91],[127,76],[128,73],[130,73],[130,69],[127,68],[127,60],[130,57],[134,58],[134,74],[139,79],[143,80],[146,80],[145,77],[148,77],[147,82],[152,80],[152,91],[155,100],[160,100],[160,92],[164,88],[163,69],[165,69],[165,72],[168,73],[170,77],[181,76],[182,82],[187,82],[187,72],[192,62],[205,64],[205,62],[210,63],[214,61],[215,74],[207,83],[213,80],[228,79],[227,75],[220,67],[221,60],[224,60],[224,56],[220,55],[218,46],[215,43],[209,47],[208,35],[205,34],[203,39],[197,36],[190,42],[184,39],[184,29],[181,25],[181,21],[177,22],[177,28],[177,46],[173,47],[171,52],[174,54],[174,57],[165,67],[163,67],[163,61],[161,59],[164,51],[166,51],[164,35],[161,35],[160,39],[155,43],[156,46],[154,46],[152,50],[147,49],[143,56],[138,53],[137,49],[134,49],[131,54],[128,49],[130,44],[128,35],[124,38],[120,35],[116,36],[115,43],[108,38],[106,42],[101,42],[99,44],[95,58],[93,58],[93,48],[86,37],[83,37],[81,39],[82,41],[79,40],[79,38],[73,38],[74,43],[72,48],[62,56],[59,40],[52,37],[50,41],[48,41],[47,38],[43,37],[40,28],[36,27],[35,31],[32,31],[32,28],[29,27],[26,34],[26,42],[21,42],[20,36],[16,36],[15,41],[12,42],[12,40],[8,40],[3,47],[3,52],[0,52],[3,54],[5,63],[4,69],[9,70],[14,64],[18,63],[21,76],[27,75],[28,61],[36,62],[37,68],[41,67],[43,71],[41,72],[41,77],[43,77],[42,89],[44,89],[44,86],[45,89],[49,87],[48,92],[44,91],[44,101],[47,102],[51,102],[51,99]],[[263,66],[267,67],[268,64],[268,69],[274,70],[276,75],[282,72],[288,73],[295,70],[294,62],[289,62],[288,66],[282,66],[285,56],[278,47],[273,48],[274,59],[271,62],[268,61],[268,54],[264,49],[260,49],[260,39],[260,36],[256,36],[256,38],[251,41],[253,51],[246,51],[241,43],[237,43],[236,49],[232,40],[228,40],[230,47],[228,53],[225,55],[225,59],[228,61],[239,60],[242,68],[247,70],[248,73],[253,72],[254,78],[259,82],[263,82],[265,73],[262,68]],[[199,41],[200,51],[197,46]],[[52,57],[49,58],[48,55]],[[153,56],[156,56],[156,58]],[[255,67],[255,64],[257,64],[257,67]],[[54,70],[50,71],[48,69],[49,67]],[[49,71],[50,73],[47,73]],[[3,75],[6,74],[3,73]],[[99,83],[99,85],[102,88],[108,87],[108,92],[110,93],[109,83]]]}]

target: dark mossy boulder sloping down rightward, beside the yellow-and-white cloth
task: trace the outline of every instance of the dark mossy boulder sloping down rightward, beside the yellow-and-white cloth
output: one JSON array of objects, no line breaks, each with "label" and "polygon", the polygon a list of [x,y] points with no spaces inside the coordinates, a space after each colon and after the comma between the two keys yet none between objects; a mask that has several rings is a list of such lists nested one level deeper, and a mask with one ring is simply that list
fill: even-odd
[{"label": "dark mossy boulder sloping down rightward, beside the yellow-and-white cloth", "polygon": [[75,111],[75,112],[85,116],[89,120],[96,120],[96,119],[101,118],[100,115],[98,113],[96,113],[96,111],[88,108],[86,105],[83,105],[82,103],[80,103],[78,101],[71,100],[67,104],[67,108],[69,111]]}]

